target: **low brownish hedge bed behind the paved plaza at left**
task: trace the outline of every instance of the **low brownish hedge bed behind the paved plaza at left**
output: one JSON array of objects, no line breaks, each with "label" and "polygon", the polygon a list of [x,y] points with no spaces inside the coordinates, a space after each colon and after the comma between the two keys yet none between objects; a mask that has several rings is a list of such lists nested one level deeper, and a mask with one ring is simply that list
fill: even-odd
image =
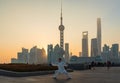
[{"label": "low brownish hedge bed behind the paved plaza at left", "polygon": [[29,65],[29,64],[0,64],[0,69],[16,72],[32,72],[32,71],[50,71],[57,70],[57,66],[49,66],[46,64]]}]

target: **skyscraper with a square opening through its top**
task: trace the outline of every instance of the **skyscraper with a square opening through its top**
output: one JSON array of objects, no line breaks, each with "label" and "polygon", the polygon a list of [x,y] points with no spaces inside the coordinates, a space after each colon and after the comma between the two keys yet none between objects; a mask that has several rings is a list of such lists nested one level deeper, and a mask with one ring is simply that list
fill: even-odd
[{"label": "skyscraper with a square opening through its top", "polygon": [[88,31],[84,31],[82,35],[82,56],[88,57]]}]

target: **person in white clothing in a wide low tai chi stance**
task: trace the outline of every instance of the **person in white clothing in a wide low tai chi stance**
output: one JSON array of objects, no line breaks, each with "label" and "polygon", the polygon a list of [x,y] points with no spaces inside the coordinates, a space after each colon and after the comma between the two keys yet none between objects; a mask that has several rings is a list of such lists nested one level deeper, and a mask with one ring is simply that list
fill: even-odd
[{"label": "person in white clothing in a wide low tai chi stance", "polygon": [[54,79],[56,79],[58,74],[65,74],[68,77],[68,79],[71,79],[70,75],[68,74],[68,72],[64,68],[64,66],[66,66],[66,64],[62,61],[61,58],[58,59],[57,66],[58,66],[58,70],[55,71],[55,74],[53,76]]}]

